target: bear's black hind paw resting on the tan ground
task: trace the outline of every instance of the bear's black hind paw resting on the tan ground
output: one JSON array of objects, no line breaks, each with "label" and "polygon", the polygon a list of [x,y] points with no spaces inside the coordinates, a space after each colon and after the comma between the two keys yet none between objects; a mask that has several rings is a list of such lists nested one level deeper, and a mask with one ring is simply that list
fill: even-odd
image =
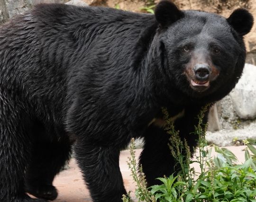
[{"label": "bear's black hind paw resting on the tan ground", "polygon": [[29,186],[26,191],[39,199],[46,199],[50,201],[55,200],[58,196],[55,186],[52,185]]}]

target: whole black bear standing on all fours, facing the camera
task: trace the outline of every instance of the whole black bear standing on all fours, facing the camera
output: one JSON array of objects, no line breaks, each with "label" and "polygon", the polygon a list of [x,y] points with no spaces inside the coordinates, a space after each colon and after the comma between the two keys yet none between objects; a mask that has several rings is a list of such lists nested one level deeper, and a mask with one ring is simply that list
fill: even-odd
[{"label": "whole black bear standing on all fours, facing the camera", "polygon": [[245,9],[223,18],[165,0],[155,15],[38,5],[1,26],[0,202],[54,200],[72,145],[94,202],[126,193],[119,153],[131,138],[145,138],[148,185],[169,176],[161,107],[193,147],[201,106],[241,76],[252,25]]}]

